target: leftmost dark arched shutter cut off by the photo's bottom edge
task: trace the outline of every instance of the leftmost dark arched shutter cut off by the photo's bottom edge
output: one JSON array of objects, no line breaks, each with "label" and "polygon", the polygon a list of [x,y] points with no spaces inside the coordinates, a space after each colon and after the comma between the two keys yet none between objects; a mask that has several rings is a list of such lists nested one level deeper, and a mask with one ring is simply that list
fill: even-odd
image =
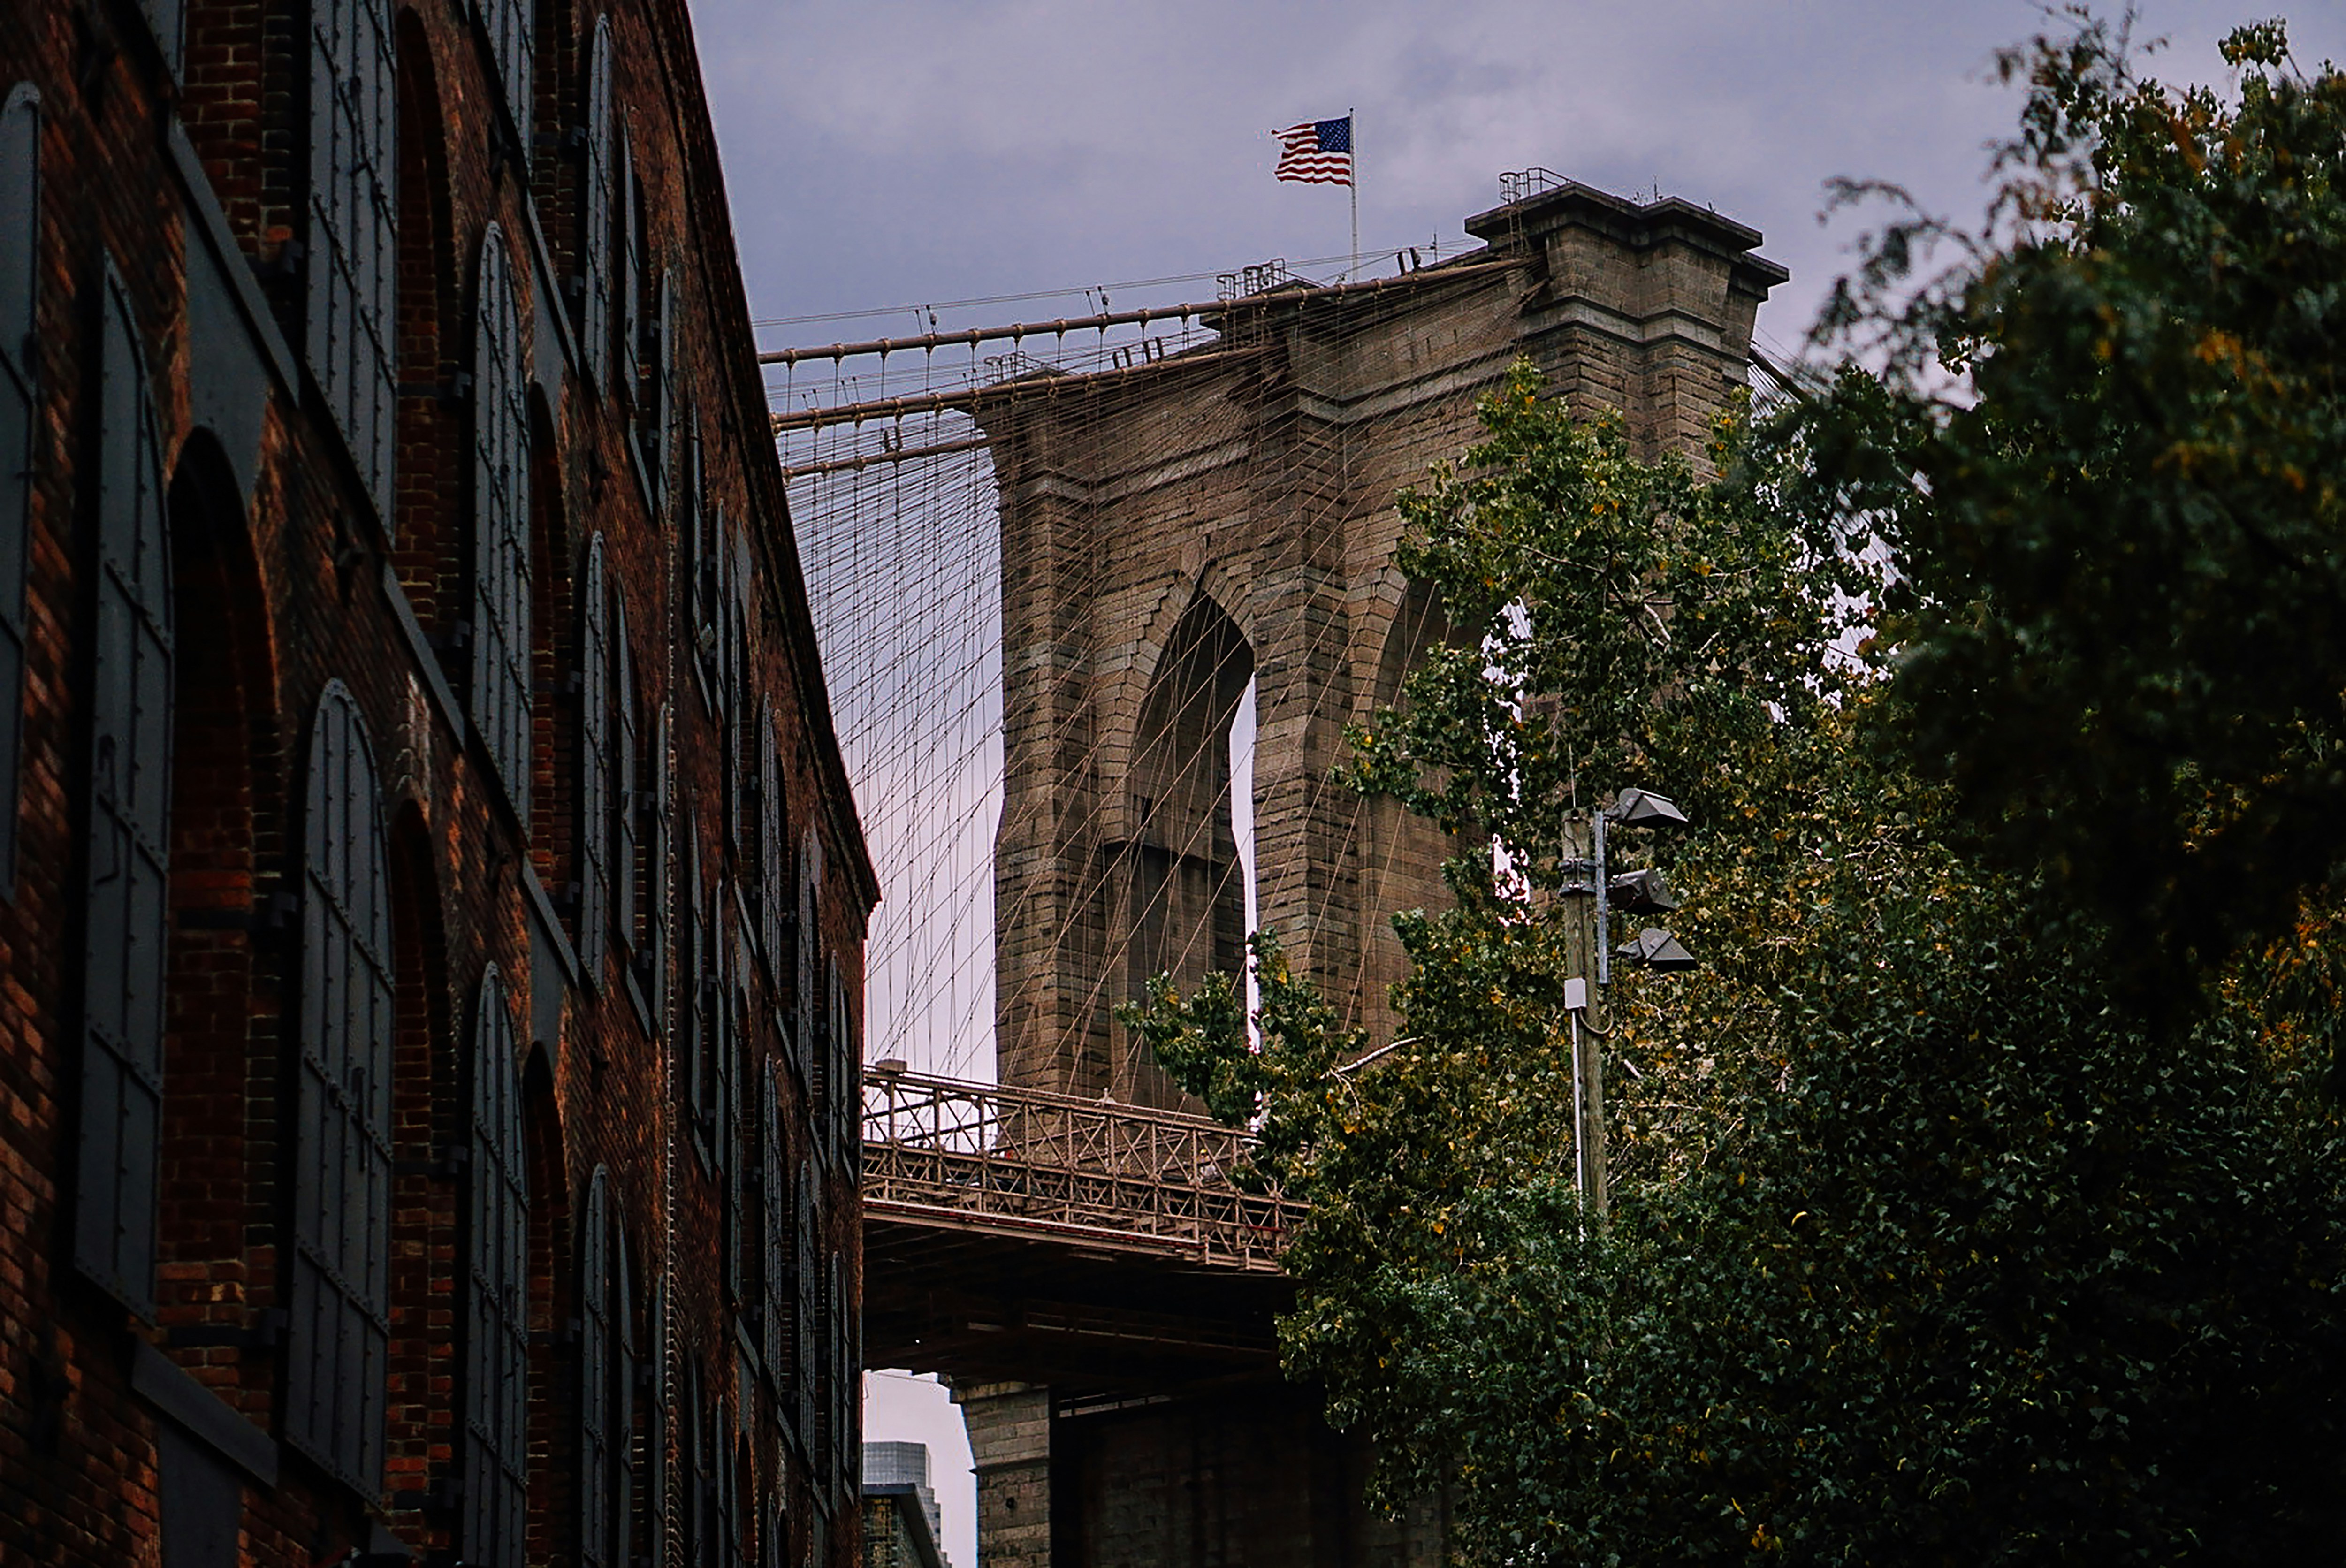
[{"label": "leftmost dark arched shutter cut off by the photo's bottom edge", "polygon": [[465,1099],[472,1160],[465,1167],[462,1556],[476,1568],[518,1568],[530,1462],[530,1185],[514,1009],[495,967],[481,976]]}]

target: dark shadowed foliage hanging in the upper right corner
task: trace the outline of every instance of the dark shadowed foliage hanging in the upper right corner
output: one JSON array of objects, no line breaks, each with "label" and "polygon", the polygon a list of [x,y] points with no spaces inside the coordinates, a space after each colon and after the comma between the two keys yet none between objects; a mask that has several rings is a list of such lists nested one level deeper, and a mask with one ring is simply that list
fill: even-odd
[{"label": "dark shadowed foliage hanging in the upper right corner", "polygon": [[1886,376],[1806,427],[1905,568],[1921,756],[2154,986],[2346,869],[2346,75],[2278,21],[2224,56],[2231,99],[2090,19],[2011,52],[1989,230],[1872,246],[1825,329]]}]

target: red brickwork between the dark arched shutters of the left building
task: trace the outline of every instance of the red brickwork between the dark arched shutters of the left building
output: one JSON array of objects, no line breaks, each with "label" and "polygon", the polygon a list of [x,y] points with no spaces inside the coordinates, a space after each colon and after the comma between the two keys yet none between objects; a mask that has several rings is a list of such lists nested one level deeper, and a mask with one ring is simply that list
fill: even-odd
[{"label": "red brickwork between the dark arched shutters of the left building", "polygon": [[[716,1237],[723,1190],[690,1153],[678,1115],[676,1033],[647,1021],[617,948],[601,974],[533,962],[535,880],[575,937],[579,831],[575,791],[582,606],[575,573],[601,530],[626,627],[645,732],[666,702],[673,735],[671,852],[701,857],[706,885],[748,890],[758,869],[723,843],[713,714],[690,671],[678,594],[680,526],[659,516],[633,474],[624,399],[601,397],[570,364],[565,279],[579,268],[579,155],[589,2],[540,0],[540,77],[530,169],[490,136],[495,87],[460,0],[399,7],[396,486],[378,519],[300,361],[298,249],[307,185],[307,5],[188,0],[174,82],[131,0],[26,0],[0,7],[0,94],[38,85],[45,106],[40,237],[40,441],[28,549],[21,852],[0,897],[0,1561],[155,1563],[157,1397],[131,1387],[138,1354],[162,1357],[263,1439],[277,1483],[242,1491],[244,1554],[317,1563],[352,1545],[399,1542],[422,1559],[453,1545],[446,1481],[460,1411],[465,1261],[460,1052],[486,965],[523,1019],[558,1019],[530,1056],[530,1559],[575,1561],[577,1211],[591,1171],[610,1171],[612,1211],[636,1275],[633,1333],[652,1286],[669,1282],[666,1368],[673,1467],[680,1390],[704,1366],[711,1401],[732,1411],[744,1547],[779,1505],[777,1561],[856,1556],[852,1474],[859,1401],[847,1399],[842,1474],[816,1476],[781,1422],[795,1404],[741,1383],[737,1312],[725,1303]],[[755,519],[751,671],[744,690],[777,714],[788,843],[826,838],[821,941],[835,951],[861,1014],[863,918],[875,890],[823,709],[805,589],[765,439],[746,305],[725,244],[725,197],[683,0],[610,0],[617,103],[645,185],[655,258],[680,284],[678,404],[697,420],[711,502]],[[174,155],[185,136],[190,160]],[[235,336],[260,376],[251,415],[202,427],[232,385],[218,324],[190,310],[206,209],[225,221],[228,265],[251,279],[263,322]],[[467,317],[481,235],[516,246],[537,401],[533,817],[523,831],[488,777],[462,714],[469,615]],[[540,254],[540,237],[544,254]],[[5,242],[5,237],[0,237]],[[174,477],[178,707],[171,833],[164,1124],[157,1190],[157,1319],[138,1322],[70,1265],[70,1171],[80,1073],[77,995],[82,833],[87,824],[89,540],[94,505],[94,322],[113,256],[143,331]],[[544,256],[544,261],[542,261]],[[540,296],[551,293],[547,310]],[[213,300],[218,305],[221,300]],[[218,315],[218,312],[213,312]],[[204,336],[211,331],[213,336]],[[272,345],[267,338],[274,336]],[[284,345],[293,345],[291,352]],[[249,495],[244,491],[249,486]],[[396,533],[387,530],[394,528]],[[387,577],[396,587],[387,587]],[[401,622],[413,610],[422,636]],[[389,1415],[380,1486],[350,1488],[277,1441],[284,1430],[291,1063],[300,974],[300,791],[310,716],[328,681],[354,692],[368,725],[392,864],[394,1214]],[[448,711],[439,692],[455,695]],[[755,732],[755,730],[751,730]],[[638,779],[650,791],[652,777]],[[699,843],[683,838],[699,824]],[[673,869],[671,869],[673,871]],[[671,873],[680,897],[685,878]],[[671,918],[687,918],[673,911]],[[537,944],[542,946],[542,944]],[[671,946],[673,953],[673,946]],[[777,1021],[795,1005],[795,965],[753,967],[751,1056],[786,1054]],[[556,986],[558,998],[547,998]],[[683,1000],[669,984],[671,1009]],[[537,1038],[537,1030],[526,1033]],[[805,1080],[781,1073],[784,1164],[823,1141]],[[741,1096],[746,1108],[755,1096]],[[852,1176],[826,1171],[816,1256],[840,1249],[856,1277]],[[138,1345],[152,1347],[141,1352]],[[150,1361],[152,1364],[152,1361]],[[638,1399],[640,1411],[640,1399]],[[645,1422],[650,1430],[650,1422]],[[687,1476],[669,1476],[669,1521]],[[828,1528],[816,1514],[828,1509]],[[671,1559],[673,1561],[673,1559]]]}]

